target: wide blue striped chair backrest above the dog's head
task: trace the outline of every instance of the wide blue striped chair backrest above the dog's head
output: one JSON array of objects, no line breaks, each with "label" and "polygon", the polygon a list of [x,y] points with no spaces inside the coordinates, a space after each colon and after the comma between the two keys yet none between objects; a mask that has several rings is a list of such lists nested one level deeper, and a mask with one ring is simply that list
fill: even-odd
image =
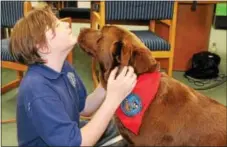
[{"label": "wide blue striped chair backrest above the dog's head", "polygon": [[106,1],[105,20],[172,19],[174,1]]}]

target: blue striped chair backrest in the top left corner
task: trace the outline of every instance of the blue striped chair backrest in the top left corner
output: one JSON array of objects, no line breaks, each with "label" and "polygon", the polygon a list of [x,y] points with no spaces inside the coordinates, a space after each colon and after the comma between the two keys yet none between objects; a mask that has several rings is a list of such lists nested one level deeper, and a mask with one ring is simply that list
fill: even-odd
[{"label": "blue striped chair backrest in the top left corner", "polygon": [[1,27],[12,28],[24,16],[24,1],[2,1],[1,13]]}]

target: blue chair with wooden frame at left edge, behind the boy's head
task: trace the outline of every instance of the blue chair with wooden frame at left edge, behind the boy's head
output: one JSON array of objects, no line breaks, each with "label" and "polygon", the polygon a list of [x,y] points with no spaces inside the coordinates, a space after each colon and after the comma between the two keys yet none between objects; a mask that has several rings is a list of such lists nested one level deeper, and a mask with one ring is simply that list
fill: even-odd
[{"label": "blue chair with wooden frame at left edge, behind the boy's head", "polygon": [[1,87],[2,94],[17,87],[22,79],[23,72],[27,67],[20,63],[15,62],[11,54],[9,53],[9,36],[12,28],[16,24],[17,20],[26,15],[31,9],[30,2],[24,1],[2,1],[1,2],[1,27],[7,29],[7,38],[1,40],[1,63],[3,68],[8,68],[17,71],[16,80]]}]

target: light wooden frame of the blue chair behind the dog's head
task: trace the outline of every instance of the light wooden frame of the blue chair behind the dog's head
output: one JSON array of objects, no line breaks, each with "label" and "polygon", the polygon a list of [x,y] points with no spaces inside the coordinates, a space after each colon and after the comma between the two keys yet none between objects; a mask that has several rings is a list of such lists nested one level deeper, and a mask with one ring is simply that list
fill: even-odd
[{"label": "light wooden frame of the blue chair behind the dog's head", "polygon": [[[93,28],[93,29],[100,29],[107,23],[105,21],[105,1],[92,2],[91,8],[95,8],[97,5],[99,6],[98,12],[91,9],[91,28]],[[178,2],[175,1],[172,19],[160,20],[161,23],[167,25],[169,28],[169,43],[171,45],[170,51],[151,51],[154,58],[167,58],[169,60],[169,64],[168,64],[168,75],[169,76],[172,76],[172,70],[173,70],[173,56],[174,56],[174,48],[175,48],[177,10],[178,10]],[[121,22],[113,21],[110,23],[111,24],[117,23],[117,24],[129,25],[129,23],[128,22],[126,23],[125,21],[121,21]],[[137,25],[141,24],[141,22],[136,22],[136,23],[137,23]],[[136,25],[136,23],[132,23],[132,25]],[[155,32],[155,24],[156,24],[156,20],[149,21],[149,30],[150,31]],[[98,76],[96,75],[96,61],[94,58],[92,58],[92,79],[94,82],[94,86],[96,87],[98,85],[99,81],[98,81]]]}]

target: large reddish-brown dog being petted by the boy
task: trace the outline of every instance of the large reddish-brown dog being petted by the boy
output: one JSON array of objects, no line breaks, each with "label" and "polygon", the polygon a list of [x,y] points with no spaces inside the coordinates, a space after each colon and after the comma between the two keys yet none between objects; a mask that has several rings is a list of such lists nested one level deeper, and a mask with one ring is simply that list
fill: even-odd
[{"label": "large reddish-brown dog being petted by the boy", "polygon": [[[105,88],[116,66],[131,65],[137,75],[158,69],[149,49],[133,33],[117,26],[99,31],[83,29],[78,44],[99,62]],[[116,122],[121,135],[133,146],[227,145],[226,107],[164,73],[139,135],[127,130],[118,118]]]}]

